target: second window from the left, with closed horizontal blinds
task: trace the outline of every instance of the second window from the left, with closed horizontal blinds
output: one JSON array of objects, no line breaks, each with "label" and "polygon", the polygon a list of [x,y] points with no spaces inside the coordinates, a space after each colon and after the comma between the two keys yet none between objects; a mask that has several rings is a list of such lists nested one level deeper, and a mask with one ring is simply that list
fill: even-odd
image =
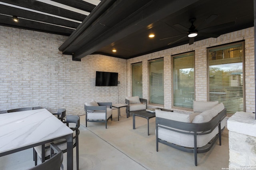
[{"label": "second window from the left, with closed horizontal blinds", "polygon": [[149,61],[150,103],[164,104],[164,59]]}]

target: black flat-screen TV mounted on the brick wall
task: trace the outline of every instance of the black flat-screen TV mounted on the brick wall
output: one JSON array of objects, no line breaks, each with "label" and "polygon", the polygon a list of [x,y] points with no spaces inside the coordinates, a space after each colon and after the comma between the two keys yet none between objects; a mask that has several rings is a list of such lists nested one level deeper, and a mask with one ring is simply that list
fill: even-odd
[{"label": "black flat-screen TV mounted on the brick wall", "polygon": [[118,72],[96,71],[95,86],[117,86]]}]

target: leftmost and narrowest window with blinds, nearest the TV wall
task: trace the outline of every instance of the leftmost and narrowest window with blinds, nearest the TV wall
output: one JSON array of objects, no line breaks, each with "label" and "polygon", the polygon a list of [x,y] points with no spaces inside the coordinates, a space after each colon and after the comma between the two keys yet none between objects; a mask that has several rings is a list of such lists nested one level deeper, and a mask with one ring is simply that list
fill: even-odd
[{"label": "leftmost and narrowest window with blinds, nearest the TV wall", "polygon": [[142,98],[142,63],[132,64],[132,96]]}]

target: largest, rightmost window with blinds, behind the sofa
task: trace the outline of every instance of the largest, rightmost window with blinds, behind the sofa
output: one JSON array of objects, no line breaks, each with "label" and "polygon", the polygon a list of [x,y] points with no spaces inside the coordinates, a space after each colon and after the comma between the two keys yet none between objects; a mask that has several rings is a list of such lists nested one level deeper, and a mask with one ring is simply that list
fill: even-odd
[{"label": "largest, rightmost window with blinds, behind the sofa", "polygon": [[227,113],[244,111],[244,42],[208,49],[209,98]]}]

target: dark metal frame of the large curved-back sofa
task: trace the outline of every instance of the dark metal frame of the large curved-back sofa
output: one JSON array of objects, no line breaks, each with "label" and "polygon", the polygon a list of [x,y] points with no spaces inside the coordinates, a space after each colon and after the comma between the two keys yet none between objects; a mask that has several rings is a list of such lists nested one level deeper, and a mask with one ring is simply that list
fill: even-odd
[{"label": "dark metal frame of the large curved-back sofa", "polygon": [[[218,115],[212,118],[211,121],[207,123],[185,123],[180,121],[174,121],[170,119],[164,119],[161,117],[156,117],[156,151],[158,152],[158,142],[164,145],[168,145],[178,150],[182,150],[184,152],[194,153],[195,166],[197,166],[197,153],[208,152],[216,140],[219,138],[219,144],[221,145],[221,133],[225,129],[221,129],[220,122],[226,117],[226,108],[223,109]],[[197,148],[197,135],[206,135],[211,133],[218,126],[218,134],[205,146]],[[182,147],[179,145],[175,145],[173,143],[169,143],[167,141],[163,141],[162,139],[158,139],[158,127],[168,129],[170,131],[175,131],[178,133],[184,133],[189,135],[194,135],[194,148]],[[178,129],[178,130],[177,130]],[[180,131],[179,131],[180,130]],[[186,132],[190,131],[190,132]]]}]

